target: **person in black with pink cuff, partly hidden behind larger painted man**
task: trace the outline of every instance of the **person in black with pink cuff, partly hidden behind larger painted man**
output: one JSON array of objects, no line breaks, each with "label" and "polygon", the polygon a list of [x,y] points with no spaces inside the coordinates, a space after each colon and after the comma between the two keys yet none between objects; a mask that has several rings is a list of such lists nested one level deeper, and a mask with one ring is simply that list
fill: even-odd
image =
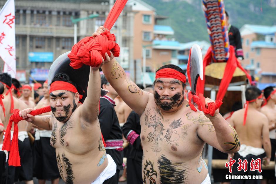
[{"label": "person in black with pink cuff, partly hidden behind larger painted man", "polygon": [[[153,93],[152,87],[147,87],[144,91]],[[124,137],[130,143],[128,145],[129,154],[127,157],[127,183],[143,184],[142,179],[142,159],[143,147],[141,145],[141,125],[140,116],[132,111],[123,126]]]}]

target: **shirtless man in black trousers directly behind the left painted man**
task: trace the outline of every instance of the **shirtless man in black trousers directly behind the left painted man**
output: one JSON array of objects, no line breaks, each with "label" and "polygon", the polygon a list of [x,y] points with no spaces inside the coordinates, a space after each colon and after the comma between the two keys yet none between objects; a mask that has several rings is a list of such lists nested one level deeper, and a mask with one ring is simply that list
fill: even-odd
[{"label": "shirtless man in black trousers directly behind the left painted man", "polygon": [[[50,96],[48,90],[48,81],[43,83],[43,98],[38,102],[34,109],[40,109],[50,105]],[[52,112],[46,112],[41,115],[51,115]],[[36,140],[34,143],[34,175],[39,184],[45,184],[46,180],[51,180],[52,184],[58,184],[59,172],[56,162],[55,148],[49,142],[52,131],[36,127]]]}]

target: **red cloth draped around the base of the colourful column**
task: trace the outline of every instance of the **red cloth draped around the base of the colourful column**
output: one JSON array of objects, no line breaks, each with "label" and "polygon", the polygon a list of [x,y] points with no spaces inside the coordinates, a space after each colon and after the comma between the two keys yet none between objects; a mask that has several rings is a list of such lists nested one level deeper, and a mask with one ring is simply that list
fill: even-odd
[{"label": "red cloth draped around the base of the colourful column", "polygon": [[[209,47],[204,59],[203,59],[203,80],[198,81],[197,82],[197,86],[196,86],[196,92],[200,92],[200,93],[204,93],[204,84],[205,84],[205,67],[209,64],[211,64],[212,61],[212,49],[211,47]],[[227,61],[225,70],[224,70],[224,74],[223,74],[223,78],[221,79],[221,83],[218,89],[218,94],[216,97],[216,100],[220,100],[224,98],[225,93],[227,92],[227,88],[233,78],[233,74],[235,72],[235,69],[239,67],[246,75],[246,77],[248,78],[250,84],[252,82],[251,80],[251,76],[245,71],[245,69],[241,66],[240,62],[238,61],[238,59],[235,56],[235,50],[234,47],[232,45],[230,45],[230,57]]]}]

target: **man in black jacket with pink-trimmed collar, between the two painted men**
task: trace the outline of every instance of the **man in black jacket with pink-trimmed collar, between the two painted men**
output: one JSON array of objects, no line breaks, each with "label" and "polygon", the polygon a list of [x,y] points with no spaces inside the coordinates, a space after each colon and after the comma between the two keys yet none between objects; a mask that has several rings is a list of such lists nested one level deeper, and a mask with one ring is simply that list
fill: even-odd
[{"label": "man in black jacket with pink-trimmed collar, between the two painted men", "polygon": [[122,130],[114,110],[114,98],[118,96],[117,92],[107,82],[104,75],[101,75],[101,87],[109,92],[106,95],[101,94],[99,121],[103,138],[106,144],[106,153],[109,154],[117,165],[117,179],[119,180],[120,170],[123,170],[123,140]]}]

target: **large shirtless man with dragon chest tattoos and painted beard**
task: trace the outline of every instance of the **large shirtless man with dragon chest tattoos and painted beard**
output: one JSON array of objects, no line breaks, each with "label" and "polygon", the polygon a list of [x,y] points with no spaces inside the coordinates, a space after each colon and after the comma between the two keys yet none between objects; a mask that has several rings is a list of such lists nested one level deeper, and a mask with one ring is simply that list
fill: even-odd
[{"label": "large shirtless man with dragon chest tattoos and painted beard", "polygon": [[[104,32],[100,27],[96,33]],[[172,64],[161,67],[154,81],[154,95],[141,90],[111,54],[102,67],[107,80],[124,102],[139,116],[144,149],[144,183],[211,183],[202,159],[205,142],[218,150],[234,153],[239,140],[234,128],[216,110],[214,116],[194,112],[184,100],[184,71]],[[172,69],[171,78],[164,75]],[[173,76],[176,76],[174,78]],[[205,104],[213,102],[206,98]],[[235,136],[234,136],[235,135]],[[236,137],[236,139],[235,139]]]}]

